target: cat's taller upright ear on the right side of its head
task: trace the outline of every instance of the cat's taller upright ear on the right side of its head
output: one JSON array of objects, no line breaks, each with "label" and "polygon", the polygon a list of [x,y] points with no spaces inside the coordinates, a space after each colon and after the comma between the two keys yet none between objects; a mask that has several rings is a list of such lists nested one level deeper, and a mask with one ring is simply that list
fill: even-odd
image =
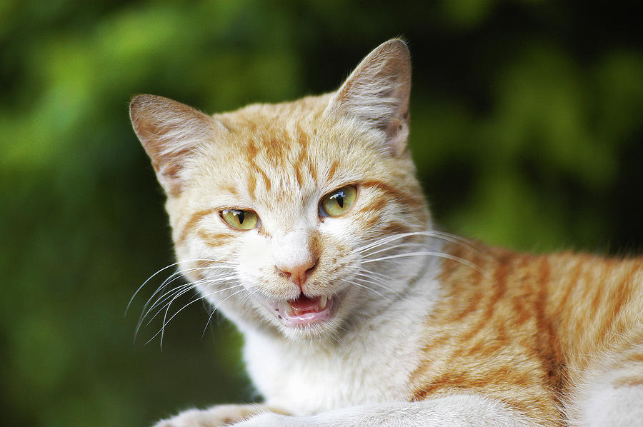
[{"label": "cat's taller upright ear on the right side of its head", "polygon": [[409,138],[411,58],[404,41],[379,45],[352,72],[327,106],[327,113],[346,114],[381,129],[394,156]]}]

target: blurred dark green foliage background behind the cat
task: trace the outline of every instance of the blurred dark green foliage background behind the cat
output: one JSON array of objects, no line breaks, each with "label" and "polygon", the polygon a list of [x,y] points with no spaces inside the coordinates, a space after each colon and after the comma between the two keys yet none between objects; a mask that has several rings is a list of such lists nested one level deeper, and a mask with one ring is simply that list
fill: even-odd
[{"label": "blurred dark green foliage background behind the cat", "polygon": [[409,41],[412,150],[437,221],[530,251],[640,253],[643,37],[627,3],[0,1],[4,426],[147,426],[255,398],[191,306],[133,344],[171,263],[134,94],[216,112],[335,89]]}]

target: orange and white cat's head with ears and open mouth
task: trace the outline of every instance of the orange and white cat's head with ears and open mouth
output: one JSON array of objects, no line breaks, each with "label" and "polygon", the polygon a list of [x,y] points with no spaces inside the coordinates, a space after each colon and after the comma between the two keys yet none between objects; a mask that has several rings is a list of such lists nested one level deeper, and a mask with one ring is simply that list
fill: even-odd
[{"label": "orange and white cat's head with ears and open mouth", "polygon": [[214,116],[131,101],[176,255],[204,298],[242,328],[302,338],[337,334],[404,291],[418,257],[397,255],[430,222],[407,149],[410,79],[394,39],[332,94]]}]

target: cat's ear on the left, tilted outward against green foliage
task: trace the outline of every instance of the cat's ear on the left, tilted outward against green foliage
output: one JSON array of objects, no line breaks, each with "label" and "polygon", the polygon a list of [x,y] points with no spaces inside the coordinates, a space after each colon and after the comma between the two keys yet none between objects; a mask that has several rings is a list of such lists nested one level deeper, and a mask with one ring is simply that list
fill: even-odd
[{"label": "cat's ear on the left, tilted outward against green foliage", "polygon": [[191,154],[216,132],[227,131],[211,116],[163,96],[134,96],[129,116],[159,183],[172,196],[181,193]]}]

